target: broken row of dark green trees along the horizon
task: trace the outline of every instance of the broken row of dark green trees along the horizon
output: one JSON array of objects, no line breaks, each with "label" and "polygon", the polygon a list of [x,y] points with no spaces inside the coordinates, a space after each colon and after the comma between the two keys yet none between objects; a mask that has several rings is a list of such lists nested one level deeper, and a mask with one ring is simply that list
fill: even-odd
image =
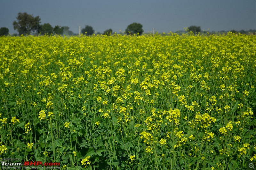
[{"label": "broken row of dark green trees along the horizon", "polygon": [[[52,35],[52,34],[59,34],[59,35],[77,35],[75,33],[73,33],[72,31],[69,30],[68,26],[54,26],[52,27],[51,24],[49,23],[44,23],[41,24],[41,18],[39,16],[33,17],[33,15],[28,14],[27,12],[18,13],[18,16],[16,18],[16,21],[13,21],[12,25],[14,30],[17,30],[19,35],[23,34],[23,35],[44,35],[44,34],[48,34],[48,35]],[[194,35],[201,33],[201,26],[189,26],[187,28],[187,31],[189,33],[192,33]],[[255,30],[256,31],[256,30]],[[249,30],[249,31],[236,31],[236,30],[231,30],[230,32],[232,33],[241,33],[241,34],[249,34],[249,33],[253,33],[255,34],[254,30]],[[113,32],[113,30],[111,28],[106,29],[102,34],[104,35],[111,35]],[[144,32],[144,30],[142,29],[142,25],[140,23],[132,23],[130,25],[127,26],[127,28],[125,29],[125,33],[126,34],[137,34],[137,35],[141,35]],[[92,26],[86,25],[82,30],[81,33],[84,35],[92,35],[94,32],[94,29],[92,28]],[[206,33],[205,31],[203,33]],[[225,31],[220,31],[220,33],[226,33]],[[8,35],[9,34],[9,29],[6,27],[1,27],[0,28],[0,36],[2,35]],[[97,34],[101,34],[101,33],[97,33]]]}]

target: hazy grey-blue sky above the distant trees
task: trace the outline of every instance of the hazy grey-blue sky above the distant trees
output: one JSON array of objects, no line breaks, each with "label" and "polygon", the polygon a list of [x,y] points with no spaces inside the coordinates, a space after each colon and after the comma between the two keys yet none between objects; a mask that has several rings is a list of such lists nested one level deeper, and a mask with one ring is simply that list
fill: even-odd
[{"label": "hazy grey-blue sky above the distant trees", "polygon": [[41,24],[68,26],[74,33],[85,25],[97,32],[122,32],[141,23],[144,32],[175,32],[191,25],[202,30],[256,29],[256,0],[1,0],[0,27],[14,31],[19,12],[41,18]]}]

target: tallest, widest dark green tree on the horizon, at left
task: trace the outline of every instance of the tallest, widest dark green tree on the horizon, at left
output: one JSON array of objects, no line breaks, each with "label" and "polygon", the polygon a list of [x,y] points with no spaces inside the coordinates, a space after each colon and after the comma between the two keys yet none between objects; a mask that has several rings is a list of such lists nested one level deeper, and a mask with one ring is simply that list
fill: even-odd
[{"label": "tallest, widest dark green tree on the horizon, at left", "polygon": [[14,30],[21,34],[31,34],[31,33],[38,33],[40,28],[40,21],[41,19],[39,16],[33,17],[33,15],[27,14],[27,12],[18,13],[17,21],[13,21],[12,25]]}]

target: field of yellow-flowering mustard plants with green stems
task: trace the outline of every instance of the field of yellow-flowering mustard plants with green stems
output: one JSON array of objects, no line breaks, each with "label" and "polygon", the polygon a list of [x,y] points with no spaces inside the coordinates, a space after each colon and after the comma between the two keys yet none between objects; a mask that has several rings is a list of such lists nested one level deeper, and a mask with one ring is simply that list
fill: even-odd
[{"label": "field of yellow-flowering mustard plants with green stems", "polygon": [[70,170],[256,166],[254,35],[0,40],[2,159]]}]

